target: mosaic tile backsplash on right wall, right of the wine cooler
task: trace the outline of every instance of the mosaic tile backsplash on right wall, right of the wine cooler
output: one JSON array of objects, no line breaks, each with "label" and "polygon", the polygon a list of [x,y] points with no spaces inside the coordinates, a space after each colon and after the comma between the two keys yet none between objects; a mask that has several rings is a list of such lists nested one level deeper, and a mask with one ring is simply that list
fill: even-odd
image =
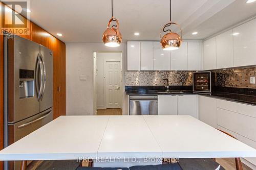
[{"label": "mosaic tile backsplash on right wall, right of the wine cooler", "polygon": [[253,88],[255,84],[250,84],[250,77],[256,76],[256,66],[247,68],[230,68],[213,70],[215,73],[215,86]]}]

